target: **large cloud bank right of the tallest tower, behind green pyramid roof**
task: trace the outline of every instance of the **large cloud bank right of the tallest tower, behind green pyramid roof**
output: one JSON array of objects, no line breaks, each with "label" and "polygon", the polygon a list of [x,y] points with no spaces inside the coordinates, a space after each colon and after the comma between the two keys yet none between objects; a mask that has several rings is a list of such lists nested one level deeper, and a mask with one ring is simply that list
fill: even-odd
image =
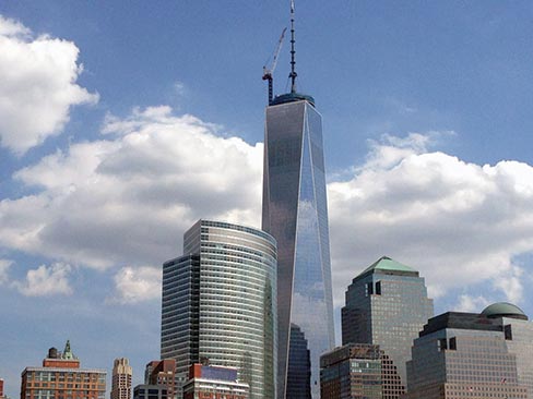
[{"label": "large cloud bank right of the tallest tower, behind green pyramid roof", "polygon": [[490,282],[520,301],[512,258],[533,251],[533,168],[470,164],[428,144],[384,136],[351,179],[329,185],[336,287],[387,254],[419,269],[434,295]]}]

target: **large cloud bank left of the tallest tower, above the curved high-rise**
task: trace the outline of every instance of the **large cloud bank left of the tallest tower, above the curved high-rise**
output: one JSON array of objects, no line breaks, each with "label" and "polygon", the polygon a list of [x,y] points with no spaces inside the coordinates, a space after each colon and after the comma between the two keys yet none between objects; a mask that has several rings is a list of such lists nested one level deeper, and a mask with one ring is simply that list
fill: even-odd
[{"label": "large cloud bank left of the tallest tower, above the curved high-rise", "polygon": [[106,140],[15,173],[35,193],[0,202],[0,245],[92,267],[142,266],[180,255],[199,218],[258,226],[262,144],[218,129],[168,107],[108,116]]}]

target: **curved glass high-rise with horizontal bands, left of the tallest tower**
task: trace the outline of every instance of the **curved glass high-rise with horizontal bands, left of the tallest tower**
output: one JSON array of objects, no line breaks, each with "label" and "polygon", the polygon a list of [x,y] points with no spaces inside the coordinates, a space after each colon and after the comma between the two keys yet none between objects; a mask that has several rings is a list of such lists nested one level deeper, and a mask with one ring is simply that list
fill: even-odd
[{"label": "curved glass high-rise with horizontal bands, left of the tallest tower", "polygon": [[264,231],[199,220],[163,265],[162,359],[178,384],[208,362],[238,371],[250,398],[275,396],[276,245]]}]

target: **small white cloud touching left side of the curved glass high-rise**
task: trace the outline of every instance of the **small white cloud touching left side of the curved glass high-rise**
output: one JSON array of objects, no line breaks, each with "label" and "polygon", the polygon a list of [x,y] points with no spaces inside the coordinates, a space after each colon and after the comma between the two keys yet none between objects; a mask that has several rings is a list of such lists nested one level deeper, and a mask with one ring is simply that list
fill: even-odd
[{"label": "small white cloud touching left side of the curved glass high-rise", "polygon": [[116,297],[110,301],[137,303],[161,298],[161,268],[122,267],[115,275]]}]

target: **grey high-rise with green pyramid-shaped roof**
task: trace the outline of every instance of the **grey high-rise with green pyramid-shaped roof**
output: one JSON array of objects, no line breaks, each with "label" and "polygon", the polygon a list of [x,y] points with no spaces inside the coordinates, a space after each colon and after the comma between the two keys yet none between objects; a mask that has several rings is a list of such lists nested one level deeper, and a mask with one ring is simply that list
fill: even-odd
[{"label": "grey high-rise with green pyramid-shaped roof", "polygon": [[406,386],[405,362],[413,340],[433,316],[418,271],[383,256],[354,278],[342,309],[342,341],[379,344],[384,366],[383,398],[399,398]]}]

